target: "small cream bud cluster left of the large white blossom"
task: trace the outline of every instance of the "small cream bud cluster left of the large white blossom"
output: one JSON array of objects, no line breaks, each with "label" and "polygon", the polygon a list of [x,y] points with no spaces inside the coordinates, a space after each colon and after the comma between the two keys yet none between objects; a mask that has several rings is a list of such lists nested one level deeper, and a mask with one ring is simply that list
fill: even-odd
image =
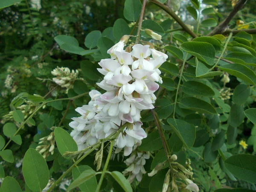
[{"label": "small cream bud cluster left of the large white blossom", "polygon": [[79,72],[78,70],[76,70],[76,72],[74,70],[70,71],[70,69],[67,67],[57,67],[51,73],[52,75],[56,76],[52,78],[52,81],[61,87],[72,89]]}]

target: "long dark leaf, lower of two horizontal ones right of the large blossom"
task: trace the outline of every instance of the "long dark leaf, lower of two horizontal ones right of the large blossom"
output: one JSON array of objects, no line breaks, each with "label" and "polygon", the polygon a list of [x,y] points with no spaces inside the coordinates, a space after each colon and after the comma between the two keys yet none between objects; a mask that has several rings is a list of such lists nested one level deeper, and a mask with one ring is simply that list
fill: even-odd
[{"label": "long dark leaf, lower of two horizontal ones right of the large blossom", "polygon": [[185,97],[181,99],[179,107],[183,109],[198,111],[200,113],[217,114],[215,108],[212,107],[211,104],[195,97]]}]

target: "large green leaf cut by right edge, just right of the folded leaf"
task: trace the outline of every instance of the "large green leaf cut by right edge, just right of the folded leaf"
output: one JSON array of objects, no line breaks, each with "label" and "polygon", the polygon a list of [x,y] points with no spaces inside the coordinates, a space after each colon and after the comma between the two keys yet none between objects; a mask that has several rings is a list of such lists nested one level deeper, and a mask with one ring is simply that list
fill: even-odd
[{"label": "large green leaf cut by right edge, just right of the folded leaf", "polygon": [[250,68],[242,64],[226,64],[219,67],[221,70],[230,73],[250,84],[256,85],[256,74]]}]

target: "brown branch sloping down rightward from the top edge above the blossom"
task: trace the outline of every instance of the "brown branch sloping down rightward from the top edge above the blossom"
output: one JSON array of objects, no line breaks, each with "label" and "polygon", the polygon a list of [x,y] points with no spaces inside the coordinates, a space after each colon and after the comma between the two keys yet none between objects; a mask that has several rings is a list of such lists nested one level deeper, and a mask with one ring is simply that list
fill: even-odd
[{"label": "brown branch sloping down rightward from the top edge above the blossom", "polygon": [[169,15],[171,15],[171,17],[177,22],[179,23],[179,25],[184,29],[184,31],[186,31],[192,38],[196,38],[197,36],[195,35],[194,32],[192,32],[185,23],[183,23],[183,21],[180,19],[180,17],[178,17],[175,12],[172,9],[169,9],[169,7],[167,7],[166,5],[160,3],[157,0],[150,0],[152,3],[154,3],[155,5],[159,6],[161,9],[163,9],[166,13],[168,13]]}]

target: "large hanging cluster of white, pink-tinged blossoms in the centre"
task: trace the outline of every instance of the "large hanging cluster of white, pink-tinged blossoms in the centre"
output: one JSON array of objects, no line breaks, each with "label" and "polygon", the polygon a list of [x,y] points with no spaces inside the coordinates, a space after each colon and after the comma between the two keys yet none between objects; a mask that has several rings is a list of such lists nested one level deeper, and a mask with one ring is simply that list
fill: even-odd
[{"label": "large hanging cluster of white, pink-tinged blossoms in the centre", "polygon": [[108,50],[111,59],[99,62],[102,69],[98,71],[105,77],[97,85],[106,92],[90,91],[91,101],[77,108],[81,116],[72,118],[73,122],[70,122],[73,128],[71,136],[79,150],[108,137],[125,122],[130,124],[116,139],[116,153],[124,148],[124,155],[128,156],[134,145],[140,145],[141,140],[147,137],[141,128],[140,112],[154,108],[154,92],[159,87],[154,81],[162,83],[158,67],[168,56],[149,45],[141,44],[135,44],[131,52],[126,52],[123,49],[128,38],[125,35]]}]

